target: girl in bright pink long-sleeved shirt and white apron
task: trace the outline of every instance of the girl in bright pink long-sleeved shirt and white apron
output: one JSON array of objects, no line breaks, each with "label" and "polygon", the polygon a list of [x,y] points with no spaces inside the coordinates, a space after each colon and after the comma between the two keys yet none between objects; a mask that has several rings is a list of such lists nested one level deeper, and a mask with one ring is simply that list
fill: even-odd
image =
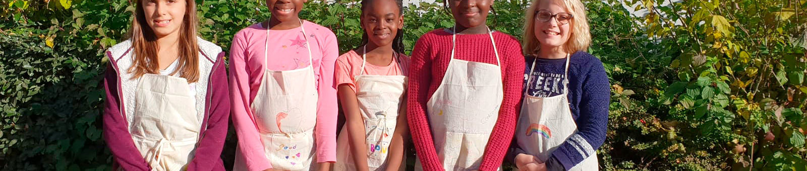
[{"label": "girl in bright pink long-sleeved shirt and white apron", "polygon": [[272,17],[230,48],[234,170],[329,170],[336,161],[337,37],[299,19],[306,0],[268,0]]}]

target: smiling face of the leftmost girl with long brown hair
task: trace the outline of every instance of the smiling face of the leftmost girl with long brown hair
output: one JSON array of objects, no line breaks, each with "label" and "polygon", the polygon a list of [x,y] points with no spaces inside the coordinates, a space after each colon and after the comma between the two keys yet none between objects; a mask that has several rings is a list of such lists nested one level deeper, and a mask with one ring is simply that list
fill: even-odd
[{"label": "smiling face of the leftmost girl with long brown hair", "polygon": [[148,23],[157,37],[177,34],[185,22],[186,0],[144,0],[143,11]]}]

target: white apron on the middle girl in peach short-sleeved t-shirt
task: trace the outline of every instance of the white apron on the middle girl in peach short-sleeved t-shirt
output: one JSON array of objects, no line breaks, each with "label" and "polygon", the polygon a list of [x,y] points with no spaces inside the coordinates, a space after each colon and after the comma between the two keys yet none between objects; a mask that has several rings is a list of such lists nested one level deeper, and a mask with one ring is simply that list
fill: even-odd
[{"label": "white apron on the middle girl in peach short-sleeved t-shirt", "polygon": [[[366,47],[362,52],[362,69],[366,65]],[[398,53],[395,57],[400,64]],[[400,65],[399,65],[400,67]],[[387,152],[392,141],[392,133],[398,121],[398,114],[406,91],[407,77],[403,75],[358,75],[356,80],[356,98],[364,119],[365,147],[367,148],[367,166],[370,170],[387,170]],[[349,148],[347,125],[342,127],[337,141],[337,163],[334,170],[357,170]],[[403,170],[402,163],[400,170]]]}]

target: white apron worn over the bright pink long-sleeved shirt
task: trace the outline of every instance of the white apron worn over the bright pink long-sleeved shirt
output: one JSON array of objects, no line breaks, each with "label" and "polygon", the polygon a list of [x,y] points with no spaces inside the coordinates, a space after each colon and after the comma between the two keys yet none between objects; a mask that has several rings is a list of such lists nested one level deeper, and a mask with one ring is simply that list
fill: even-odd
[{"label": "white apron worn over the bright pink long-sleeved shirt", "polygon": [[[300,29],[305,34],[303,22]],[[266,37],[270,29],[266,28]],[[309,170],[314,161],[316,146],[317,98],[311,44],[306,38],[308,67],[288,71],[266,69],[255,99],[249,107],[253,111],[258,133],[261,134],[266,158],[273,169]],[[269,40],[264,48],[264,66],[268,66]],[[240,152],[236,152],[238,154]],[[240,156],[240,155],[236,155]],[[236,157],[235,170],[246,170],[244,161]],[[316,169],[316,168],[314,168]]]}]

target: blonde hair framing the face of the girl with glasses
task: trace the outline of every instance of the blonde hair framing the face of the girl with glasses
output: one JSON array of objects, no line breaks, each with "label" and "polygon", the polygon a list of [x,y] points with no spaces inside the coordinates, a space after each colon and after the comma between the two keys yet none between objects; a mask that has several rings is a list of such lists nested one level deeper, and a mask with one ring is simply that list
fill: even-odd
[{"label": "blonde hair framing the face of the girl with glasses", "polygon": [[[533,0],[532,4],[527,8],[524,23],[524,40],[522,41],[521,50],[525,53],[537,52],[540,48],[540,42],[535,38],[535,11],[538,9],[538,1]],[[558,1],[558,0],[553,0]],[[585,52],[588,46],[592,44],[592,35],[588,31],[588,19],[586,17],[586,8],[580,0],[560,0],[566,6],[566,10],[571,13],[572,18],[569,22],[571,35],[566,44],[563,44],[563,50],[568,53],[575,53],[578,51]]]}]

